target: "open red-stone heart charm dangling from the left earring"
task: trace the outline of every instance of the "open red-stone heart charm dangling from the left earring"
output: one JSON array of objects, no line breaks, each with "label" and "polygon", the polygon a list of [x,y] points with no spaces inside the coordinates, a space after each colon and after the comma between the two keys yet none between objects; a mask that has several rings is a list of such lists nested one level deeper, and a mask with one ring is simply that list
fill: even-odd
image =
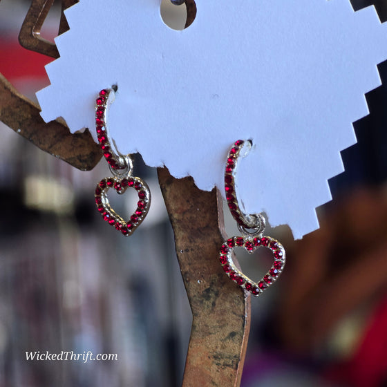
[{"label": "open red-stone heart charm dangling from the left earring", "polygon": [[[126,191],[127,188],[133,187],[138,192],[137,209],[131,215],[129,220],[122,219],[110,206],[108,202],[107,192],[113,188],[119,194]],[[102,214],[104,220],[112,225],[124,236],[131,235],[134,230],[142,223],[145,216],[148,214],[149,205],[151,202],[151,193],[147,183],[142,179],[127,176],[126,178],[104,178],[95,188],[95,204],[97,209]]]}]

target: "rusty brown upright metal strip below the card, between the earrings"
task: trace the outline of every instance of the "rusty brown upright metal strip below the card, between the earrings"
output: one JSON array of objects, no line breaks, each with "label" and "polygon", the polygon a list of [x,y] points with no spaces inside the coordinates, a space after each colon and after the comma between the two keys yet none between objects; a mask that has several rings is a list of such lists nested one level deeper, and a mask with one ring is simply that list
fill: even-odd
[{"label": "rusty brown upright metal strip below the card, between the earrings", "polygon": [[224,238],[216,190],[200,191],[192,178],[173,178],[166,168],[158,174],[193,316],[183,386],[239,386],[250,299],[218,262]]}]

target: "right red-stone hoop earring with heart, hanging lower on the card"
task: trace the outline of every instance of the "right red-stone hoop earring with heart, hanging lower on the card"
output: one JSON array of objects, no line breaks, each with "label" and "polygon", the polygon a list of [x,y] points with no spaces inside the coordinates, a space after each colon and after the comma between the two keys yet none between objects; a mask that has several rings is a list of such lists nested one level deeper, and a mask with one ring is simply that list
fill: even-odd
[{"label": "right red-stone hoop earring with heart, hanging lower on the card", "polygon": [[[263,290],[267,289],[278,278],[285,265],[285,249],[278,240],[270,236],[263,236],[265,232],[265,218],[263,214],[246,215],[240,209],[236,197],[236,164],[241,151],[247,148],[249,151],[252,147],[252,142],[238,140],[230,149],[227,155],[227,163],[225,169],[225,193],[227,205],[231,211],[233,218],[238,223],[238,229],[243,236],[234,236],[225,240],[220,247],[220,264],[223,270],[240,287],[252,293],[254,296],[259,296]],[[243,155],[244,157],[244,155]],[[248,253],[252,254],[258,247],[267,247],[272,251],[274,263],[269,272],[263,276],[258,282],[249,279],[232,260],[232,251],[235,247],[243,247]]]}]

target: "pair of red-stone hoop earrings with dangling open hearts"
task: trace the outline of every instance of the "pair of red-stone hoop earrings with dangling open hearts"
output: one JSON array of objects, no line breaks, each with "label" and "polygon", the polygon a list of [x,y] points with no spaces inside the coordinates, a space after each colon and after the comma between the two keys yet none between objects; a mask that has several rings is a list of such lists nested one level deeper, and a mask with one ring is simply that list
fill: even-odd
[{"label": "pair of red-stone hoop earrings with dangling open hearts", "polygon": [[[133,176],[133,160],[131,155],[122,155],[117,151],[115,143],[108,133],[107,110],[115,98],[113,88],[106,88],[100,91],[95,101],[95,128],[98,142],[108,162],[109,169],[113,173],[112,177],[102,179],[95,188],[95,203],[98,211],[109,225],[115,227],[124,236],[133,234],[135,229],[142,223],[149,211],[151,204],[151,192],[146,182],[141,178]],[[225,195],[227,205],[232,216],[238,223],[238,229],[242,236],[234,236],[225,240],[220,247],[219,261],[223,270],[240,287],[251,292],[254,296],[259,296],[263,290],[267,289],[278,279],[285,265],[285,249],[278,240],[270,236],[263,236],[265,231],[265,218],[263,214],[246,215],[240,209],[236,196],[236,165],[240,153],[247,148],[251,149],[252,142],[249,140],[238,140],[234,143],[227,155],[225,167]],[[133,187],[138,193],[137,209],[129,220],[122,219],[108,202],[107,192],[115,189],[118,194],[122,194],[126,189]],[[263,279],[254,282],[249,279],[238,267],[236,267],[232,252],[236,247],[243,247],[247,252],[253,253],[258,247],[267,247],[272,251],[274,263]]]}]

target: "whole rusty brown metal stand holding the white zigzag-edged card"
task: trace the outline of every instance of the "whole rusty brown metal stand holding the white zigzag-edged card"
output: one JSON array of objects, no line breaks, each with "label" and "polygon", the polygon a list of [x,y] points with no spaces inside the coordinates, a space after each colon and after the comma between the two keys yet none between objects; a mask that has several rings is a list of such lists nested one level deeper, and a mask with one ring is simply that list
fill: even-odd
[{"label": "whole rusty brown metal stand holding the white zigzag-edged card", "polygon": [[[76,0],[62,0],[62,10]],[[53,0],[33,0],[19,35],[21,46],[58,57],[54,44],[42,39],[40,28]],[[186,0],[188,18],[196,12]],[[68,28],[62,18],[59,34]],[[46,124],[39,107],[0,74],[0,120],[43,151],[81,170],[100,160],[100,149],[90,133],[71,134],[58,121]],[[173,232],[176,253],[193,314],[183,386],[240,385],[250,324],[249,296],[227,279],[218,264],[223,243],[223,214],[216,190],[200,191],[191,178],[173,178],[166,168],[158,177]]]}]

